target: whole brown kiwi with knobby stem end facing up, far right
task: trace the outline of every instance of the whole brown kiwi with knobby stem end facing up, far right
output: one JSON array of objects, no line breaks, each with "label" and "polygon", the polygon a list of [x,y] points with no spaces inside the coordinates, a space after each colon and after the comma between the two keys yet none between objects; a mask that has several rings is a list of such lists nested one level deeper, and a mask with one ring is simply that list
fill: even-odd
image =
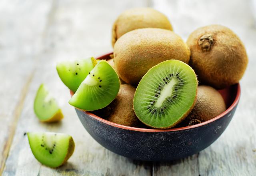
[{"label": "whole brown kiwi with knobby stem end facing up, far right", "polygon": [[190,34],[187,44],[191,50],[190,66],[201,83],[222,89],[242,78],[248,57],[241,40],[229,28],[198,28]]}]

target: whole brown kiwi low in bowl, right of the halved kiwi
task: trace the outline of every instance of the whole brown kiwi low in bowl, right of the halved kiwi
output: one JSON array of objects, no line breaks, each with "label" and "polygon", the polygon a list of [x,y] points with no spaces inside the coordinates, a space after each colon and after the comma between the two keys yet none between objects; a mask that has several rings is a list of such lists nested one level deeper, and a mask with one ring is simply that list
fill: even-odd
[{"label": "whole brown kiwi low in bowl, right of the halved kiwi", "polygon": [[183,126],[190,126],[210,120],[226,110],[221,94],[211,86],[200,85],[197,90],[196,104],[186,117]]}]

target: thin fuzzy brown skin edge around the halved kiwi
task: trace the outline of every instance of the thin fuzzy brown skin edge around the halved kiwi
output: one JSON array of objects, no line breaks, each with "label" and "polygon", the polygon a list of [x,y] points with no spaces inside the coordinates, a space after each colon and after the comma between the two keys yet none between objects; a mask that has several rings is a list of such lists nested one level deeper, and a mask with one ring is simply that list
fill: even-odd
[{"label": "thin fuzzy brown skin edge around the halved kiwi", "polygon": [[[193,69],[192,69],[193,70]],[[149,70],[148,70],[149,71]],[[194,75],[196,76],[196,73],[194,72],[194,70],[193,70],[193,73],[194,73]],[[144,77],[144,76],[143,76]],[[138,84],[138,86],[140,85],[140,83]],[[197,80],[197,85],[198,85],[198,80]],[[136,89],[136,91],[137,91],[137,89]],[[135,94],[136,94],[136,91],[135,91]],[[175,122],[174,124],[172,124],[171,126],[168,126],[168,127],[163,127],[163,128],[157,128],[157,129],[170,129],[170,128],[173,128],[173,127],[175,127],[175,126],[177,126],[177,125],[179,125],[179,124],[181,124],[181,122],[188,116],[188,114],[190,114],[190,112],[193,110],[193,108],[194,108],[194,106],[195,106],[195,104],[196,104],[196,99],[197,99],[197,92],[198,92],[198,89],[196,89],[196,96],[195,96],[195,99],[194,99],[194,103],[192,104],[192,106],[190,107],[190,109],[177,121],[177,122]],[[133,102],[133,105],[134,105],[134,102]],[[134,109],[134,106],[133,106],[133,109]],[[135,111],[134,111],[135,112]],[[136,114],[136,112],[135,112],[135,114]],[[136,115],[137,116],[137,115]],[[140,118],[138,118],[138,120],[140,120]],[[142,120],[140,120],[140,122],[142,122]],[[156,128],[156,127],[154,127],[154,126],[150,126],[150,125],[148,125],[148,124],[146,124],[146,123],[144,123],[144,122],[142,122],[143,124],[145,124],[146,126],[149,126],[149,127],[151,127],[151,128]]]}]

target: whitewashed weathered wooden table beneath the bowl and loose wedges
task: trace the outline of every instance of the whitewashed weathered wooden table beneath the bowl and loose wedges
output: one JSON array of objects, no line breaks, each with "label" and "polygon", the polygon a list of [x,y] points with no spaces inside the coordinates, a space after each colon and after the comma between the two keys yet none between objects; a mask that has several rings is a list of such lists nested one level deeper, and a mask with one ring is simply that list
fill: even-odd
[{"label": "whitewashed weathered wooden table beneath the bowl and loose wedges", "polygon": [[[226,131],[211,146],[182,160],[141,162],[114,154],[83,128],[68,104],[68,89],[56,62],[98,56],[112,50],[111,27],[123,10],[152,6],[164,12],[184,40],[207,24],[230,27],[244,42],[249,65],[242,95]],[[0,174],[52,175],[256,175],[256,28],[245,0],[2,0],[0,1]],[[57,98],[64,119],[38,121],[33,101],[44,82]],[[76,149],[67,164],[51,169],[32,155],[28,131],[64,132]]]}]

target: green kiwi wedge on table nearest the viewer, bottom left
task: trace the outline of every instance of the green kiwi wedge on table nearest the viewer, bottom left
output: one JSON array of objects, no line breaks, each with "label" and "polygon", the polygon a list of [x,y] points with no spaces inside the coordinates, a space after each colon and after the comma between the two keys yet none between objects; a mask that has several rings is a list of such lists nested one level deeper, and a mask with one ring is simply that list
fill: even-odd
[{"label": "green kiwi wedge on table nearest the viewer, bottom left", "polygon": [[64,164],[75,148],[74,140],[68,134],[29,132],[28,141],[35,158],[51,168]]}]

